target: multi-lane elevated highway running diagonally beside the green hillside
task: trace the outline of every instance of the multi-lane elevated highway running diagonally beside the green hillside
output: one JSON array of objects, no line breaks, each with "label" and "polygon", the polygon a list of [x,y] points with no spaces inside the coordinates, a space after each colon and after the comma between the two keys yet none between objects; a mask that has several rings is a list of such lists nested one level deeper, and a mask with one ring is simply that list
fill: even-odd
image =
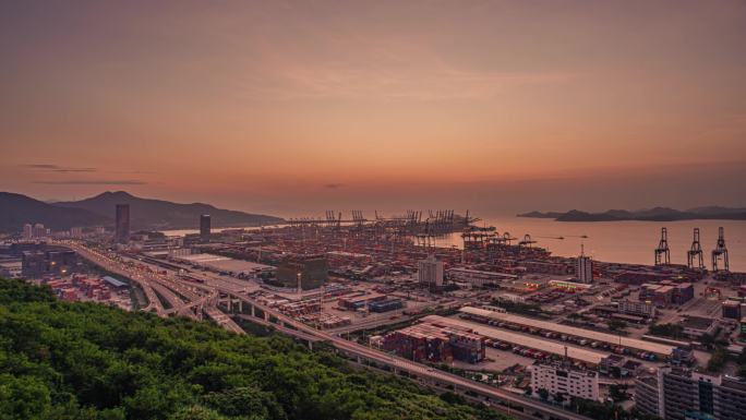
[{"label": "multi-lane elevated highway running diagonally beside the green hillside", "polygon": [[[460,391],[471,392],[483,397],[490,398],[491,403],[505,401],[510,406],[524,407],[528,410],[524,413],[515,411],[510,412],[513,416],[518,415],[520,417],[530,417],[533,415],[533,412],[540,412],[544,416],[551,417],[552,419],[589,420],[585,416],[563,410],[561,408],[543,404],[532,398],[516,395],[500,388],[495,388],[485,384],[467,380],[456,374],[433,369],[425,364],[417,363],[411,360],[402,359],[400,357],[392,356],[362,346],[358,343],[346,340],[337,335],[315,329],[298,320],[294,320],[282,314],[279,311],[265,307],[262,303],[258,303],[256,300],[246,295],[246,287],[244,285],[237,285],[233,281],[226,281],[226,279],[220,277],[215,278],[213,276],[204,276],[202,275],[202,273],[194,272],[190,274],[195,276],[196,278],[204,280],[204,284],[186,281],[184,279],[180,279],[178,276],[168,274],[159,275],[157,274],[157,272],[155,273],[155,275],[153,275],[152,269],[147,271],[149,275],[144,275],[143,269],[128,268],[128,263],[132,264],[132,261],[127,261],[128,259],[122,259],[122,262],[117,262],[110,259],[109,256],[104,255],[99,252],[92,251],[77,242],[65,241],[62,244],[75,250],[84,259],[89,260],[95,264],[98,264],[105,267],[106,269],[109,269],[112,273],[117,273],[128,278],[131,278],[133,281],[141,285],[141,287],[143,287],[143,289],[146,290],[146,293],[148,293],[147,290],[149,289],[151,291],[148,293],[148,299],[151,299],[151,295],[154,295],[154,288],[156,288],[156,290],[163,290],[161,288],[170,290],[176,289],[179,292],[179,295],[192,300],[191,302],[184,302],[180,298],[173,296],[173,293],[171,292],[165,293],[164,298],[169,301],[169,303],[176,309],[177,313],[180,313],[186,307],[193,307],[195,303],[200,303],[200,305],[202,307],[202,311],[207,316],[214,320],[221,327],[233,333],[245,334],[245,332],[238,324],[236,324],[236,322],[233,322],[230,319],[230,316],[226,315],[215,307],[215,301],[218,292],[232,296],[234,299],[241,300],[244,303],[252,305],[255,310],[264,312],[265,316],[276,319],[279,324],[273,324],[273,326],[284,334],[288,334],[301,339],[306,339],[309,341],[327,341],[335,348],[337,348],[339,351],[345,352],[350,357],[359,358],[370,362],[375,362],[377,365],[381,367],[388,367],[395,372],[407,372],[409,375],[416,376],[419,380],[426,380],[435,384],[435,386],[444,387],[450,385]],[[140,261],[137,262],[142,263]],[[147,263],[142,264],[149,266],[149,264]],[[208,296],[202,296],[200,293],[196,293],[195,291],[193,291],[195,288],[208,292]],[[158,314],[161,316],[166,316],[166,311],[163,309],[163,305],[160,305],[158,299],[156,298],[152,301],[152,303],[153,302],[158,302],[155,305]],[[270,324],[268,321],[254,319],[248,315],[242,315],[240,317],[249,319],[252,322],[256,322],[260,324]],[[495,406],[495,408],[503,411],[506,410],[506,408],[502,406]]]}]

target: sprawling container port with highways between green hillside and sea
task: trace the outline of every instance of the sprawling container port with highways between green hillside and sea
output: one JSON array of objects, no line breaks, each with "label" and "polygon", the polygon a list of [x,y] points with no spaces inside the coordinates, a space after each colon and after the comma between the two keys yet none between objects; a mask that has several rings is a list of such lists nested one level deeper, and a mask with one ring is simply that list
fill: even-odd
[{"label": "sprawling container port with highways between green hillside and sea", "polygon": [[[11,240],[0,247],[0,268],[58,286],[105,265],[124,280],[113,286],[133,299],[117,304],[130,310],[209,317],[239,333],[292,320],[274,331],[309,346],[314,334],[336,337],[338,346],[364,346],[358,355],[368,348],[383,355],[378,361],[455,370],[509,393],[556,384],[553,375],[590,387],[575,397],[604,400],[612,384],[649,392],[638,380],[650,372],[707,368],[708,343],[734,357],[745,345],[746,275],[730,271],[723,230],[710,264],[696,230],[688,263],[671,264],[663,229],[651,265],[640,265],[594,261],[582,250],[555,256],[530,233],[479,227],[470,212],[449,209],[373,218],[328,211],[216,232],[207,216],[197,221],[198,235],[112,238],[96,229]],[[462,245],[436,245],[447,235]],[[719,372],[735,373],[732,364]]]}]

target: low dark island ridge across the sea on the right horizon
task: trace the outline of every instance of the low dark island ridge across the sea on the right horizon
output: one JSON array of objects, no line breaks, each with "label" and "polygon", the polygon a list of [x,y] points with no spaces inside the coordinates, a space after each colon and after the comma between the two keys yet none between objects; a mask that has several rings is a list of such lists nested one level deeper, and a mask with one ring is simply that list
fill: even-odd
[{"label": "low dark island ridge across the sea on the right horizon", "polygon": [[675,220],[746,220],[746,208],[707,206],[678,211],[670,207],[654,207],[640,211],[610,209],[603,213],[588,213],[578,209],[562,212],[529,212],[518,217],[551,218],[556,221],[675,221]]}]

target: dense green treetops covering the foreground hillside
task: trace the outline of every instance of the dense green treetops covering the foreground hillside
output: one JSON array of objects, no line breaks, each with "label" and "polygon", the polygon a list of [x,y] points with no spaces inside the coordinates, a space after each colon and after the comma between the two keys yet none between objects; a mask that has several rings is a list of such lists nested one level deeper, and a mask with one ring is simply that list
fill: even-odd
[{"label": "dense green treetops covering the foreground hillside", "polygon": [[2,419],[501,419],[329,351],[0,279]]}]

